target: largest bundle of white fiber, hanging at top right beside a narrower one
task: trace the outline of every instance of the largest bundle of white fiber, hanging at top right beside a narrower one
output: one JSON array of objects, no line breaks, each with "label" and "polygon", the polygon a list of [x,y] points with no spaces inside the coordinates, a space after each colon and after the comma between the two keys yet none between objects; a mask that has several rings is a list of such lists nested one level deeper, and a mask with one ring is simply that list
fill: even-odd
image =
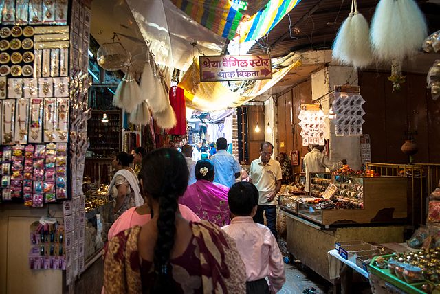
[{"label": "largest bundle of white fiber, hanging at top right beside a narrower one", "polygon": [[371,21],[371,45],[377,60],[404,60],[421,48],[428,30],[414,0],[380,0]]}]

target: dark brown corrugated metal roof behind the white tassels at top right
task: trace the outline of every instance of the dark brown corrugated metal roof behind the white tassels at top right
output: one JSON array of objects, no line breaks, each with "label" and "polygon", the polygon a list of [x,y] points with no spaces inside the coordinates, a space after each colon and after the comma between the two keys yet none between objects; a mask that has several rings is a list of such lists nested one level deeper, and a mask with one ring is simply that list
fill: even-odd
[{"label": "dark brown corrugated metal roof behind the white tassels at top right", "polygon": [[[371,21],[378,0],[358,1],[358,10]],[[419,1],[430,28],[440,29],[440,5]],[[351,10],[350,0],[303,0],[274,27],[267,37],[250,49],[250,54],[262,54],[270,46],[273,57],[307,49],[331,49],[338,29]],[[290,16],[290,19],[289,19]],[[291,30],[289,32],[289,27]]]}]

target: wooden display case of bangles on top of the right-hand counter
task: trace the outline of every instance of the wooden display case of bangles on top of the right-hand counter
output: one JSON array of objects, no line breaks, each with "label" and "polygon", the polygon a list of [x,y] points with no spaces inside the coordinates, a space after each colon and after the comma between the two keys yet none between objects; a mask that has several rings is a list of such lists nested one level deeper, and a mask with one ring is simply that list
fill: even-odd
[{"label": "wooden display case of bangles on top of the right-hand counter", "polygon": [[[311,185],[316,185],[315,192],[323,193],[321,190],[328,179],[322,174],[319,176],[312,177]],[[328,185],[331,183],[338,188],[331,199],[312,195],[312,198],[300,199],[298,216],[326,226],[406,221],[406,179],[331,176]]]}]

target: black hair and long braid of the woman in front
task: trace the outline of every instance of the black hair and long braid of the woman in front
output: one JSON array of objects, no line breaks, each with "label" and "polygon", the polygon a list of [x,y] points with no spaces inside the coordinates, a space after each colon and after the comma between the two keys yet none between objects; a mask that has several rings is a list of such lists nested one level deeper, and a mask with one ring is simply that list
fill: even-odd
[{"label": "black hair and long braid of the woman in front", "polygon": [[154,150],[142,161],[140,177],[144,192],[159,202],[158,233],[153,260],[155,282],[150,293],[175,292],[170,252],[174,246],[177,201],[186,191],[188,174],[184,156],[175,149]]}]

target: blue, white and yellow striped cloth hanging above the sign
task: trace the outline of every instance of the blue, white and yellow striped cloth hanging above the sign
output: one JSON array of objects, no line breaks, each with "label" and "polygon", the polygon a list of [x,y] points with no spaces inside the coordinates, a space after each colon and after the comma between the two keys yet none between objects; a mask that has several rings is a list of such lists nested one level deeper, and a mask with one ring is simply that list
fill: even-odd
[{"label": "blue, white and yellow striped cloth hanging above the sign", "polygon": [[300,1],[271,0],[264,10],[260,10],[251,16],[248,21],[240,23],[237,30],[239,36],[235,38],[235,41],[248,42],[259,40],[270,32]]}]

